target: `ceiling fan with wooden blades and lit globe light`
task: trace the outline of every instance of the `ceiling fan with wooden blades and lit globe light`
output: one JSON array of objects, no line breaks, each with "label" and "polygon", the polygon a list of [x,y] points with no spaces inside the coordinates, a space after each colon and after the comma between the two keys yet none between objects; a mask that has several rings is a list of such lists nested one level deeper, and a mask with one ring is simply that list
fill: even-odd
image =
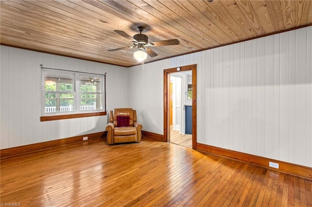
[{"label": "ceiling fan with wooden blades and lit globe light", "polygon": [[[120,31],[120,30],[114,30],[117,34],[129,39],[132,41],[134,46],[128,46],[128,47],[122,47],[117,49],[112,49],[108,51],[118,51],[123,49],[131,49],[137,47],[137,52],[134,53],[134,56],[137,60],[142,61],[146,59],[147,54],[150,57],[156,57],[157,53],[152,51],[149,47],[158,47],[158,46],[167,46],[167,45],[178,45],[180,42],[177,39],[168,39],[168,40],[161,40],[161,41],[155,41],[155,42],[148,42],[148,36],[142,34],[144,30],[144,27],[138,26],[137,31],[139,31],[139,34],[134,35],[133,37],[128,35],[127,33]],[[138,58],[137,58],[137,57]]]}]

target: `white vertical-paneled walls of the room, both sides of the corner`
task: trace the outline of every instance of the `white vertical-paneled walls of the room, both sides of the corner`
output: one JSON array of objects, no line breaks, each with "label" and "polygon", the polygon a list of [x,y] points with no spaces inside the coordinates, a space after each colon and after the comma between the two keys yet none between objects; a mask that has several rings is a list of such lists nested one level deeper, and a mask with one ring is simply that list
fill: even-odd
[{"label": "white vertical-paneled walls of the room, both sides of the corner", "polygon": [[311,26],[129,69],[0,48],[1,149],[104,131],[107,116],[39,121],[39,64],[107,72],[107,110],[133,107],[143,130],[157,134],[163,70],[197,64],[198,143],[312,167]]}]

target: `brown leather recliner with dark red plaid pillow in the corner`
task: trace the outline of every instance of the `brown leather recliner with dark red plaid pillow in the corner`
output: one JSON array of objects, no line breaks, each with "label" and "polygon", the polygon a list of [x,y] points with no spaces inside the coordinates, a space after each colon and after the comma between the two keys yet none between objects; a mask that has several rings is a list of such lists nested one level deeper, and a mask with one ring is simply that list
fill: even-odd
[{"label": "brown leather recliner with dark red plaid pillow in the corner", "polygon": [[115,108],[109,112],[106,125],[107,143],[140,142],[142,124],[137,122],[137,111],[132,108]]}]

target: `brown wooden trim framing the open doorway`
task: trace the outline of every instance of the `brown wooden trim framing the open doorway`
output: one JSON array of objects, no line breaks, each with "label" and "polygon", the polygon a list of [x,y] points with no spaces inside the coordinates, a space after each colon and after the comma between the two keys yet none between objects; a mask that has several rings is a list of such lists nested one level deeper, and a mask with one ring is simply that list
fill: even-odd
[{"label": "brown wooden trim framing the open doorway", "polygon": [[196,122],[196,64],[164,69],[164,141],[170,141],[170,73],[192,70],[192,148],[196,149],[197,122]]}]

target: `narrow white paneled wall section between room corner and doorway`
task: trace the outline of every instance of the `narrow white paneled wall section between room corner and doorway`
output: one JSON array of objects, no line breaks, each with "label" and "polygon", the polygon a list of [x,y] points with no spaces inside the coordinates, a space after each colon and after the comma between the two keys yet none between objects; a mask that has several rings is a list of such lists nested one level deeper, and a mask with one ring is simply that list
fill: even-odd
[{"label": "narrow white paneled wall section between room corner and doorway", "polygon": [[144,131],[163,134],[163,69],[169,67],[167,59],[129,68],[129,106]]}]

